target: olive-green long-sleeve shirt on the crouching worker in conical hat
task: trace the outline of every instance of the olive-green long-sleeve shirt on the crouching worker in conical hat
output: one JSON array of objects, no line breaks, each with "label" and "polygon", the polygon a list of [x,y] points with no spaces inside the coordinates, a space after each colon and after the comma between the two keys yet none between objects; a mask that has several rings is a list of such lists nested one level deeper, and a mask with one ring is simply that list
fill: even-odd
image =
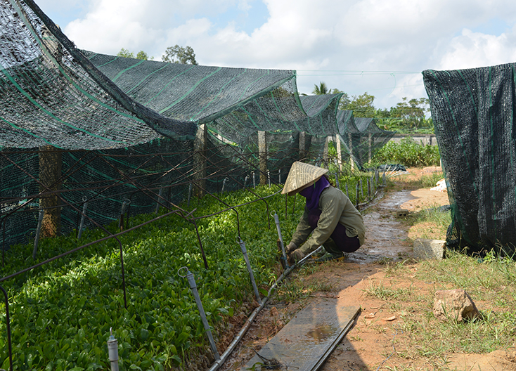
[{"label": "olive-green long-sleeve shirt on the crouching worker in conical hat", "polygon": [[[304,207],[304,213],[297,225],[291,242],[296,246],[301,246],[303,254],[309,254],[323,245],[330,237],[337,226],[341,223],[346,227],[348,237],[359,236],[360,245],[366,237],[366,228],[360,212],[353,206],[349,198],[332,186],[325,188],[319,197],[319,209],[321,216],[317,227],[312,230],[308,223],[308,209]],[[311,233],[311,236],[309,237]],[[305,242],[306,241],[306,242]],[[304,242],[304,244],[303,244]]]}]

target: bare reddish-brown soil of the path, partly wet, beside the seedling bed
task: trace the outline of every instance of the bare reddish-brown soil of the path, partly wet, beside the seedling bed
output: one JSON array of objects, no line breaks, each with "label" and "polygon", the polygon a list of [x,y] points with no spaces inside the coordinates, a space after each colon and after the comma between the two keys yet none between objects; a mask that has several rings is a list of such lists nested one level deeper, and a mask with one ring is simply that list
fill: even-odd
[{"label": "bare reddish-brown soil of the path, partly wet, beside the seedling bed", "polygon": [[[408,169],[411,174],[399,177],[418,177],[422,173],[438,170]],[[303,279],[306,285],[310,282],[324,283],[331,290],[316,292],[308,299],[288,304],[271,299],[219,370],[245,370],[242,366],[254,356],[253,349],[261,349],[302,307],[325,297],[337,297],[343,306],[359,304],[361,313],[346,337],[322,365],[322,371],[516,370],[516,352],[512,349],[488,354],[452,353],[444,360],[432,360],[411,353],[407,346],[411,344],[411,338],[403,331],[403,318],[408,312],[417,315],[413,312],[418,310],[418,305],[404,301],[403,306],[392,306],[366,293],[370,287],[381,282],[384,287],[411,287],[433,294],[432,282],[421,282],[413,275],[389,275],[385,263],[407,261],[410,270],[417,271],[418,262],[411,259],[413,247],[409,228],[399,218],[406,213],[446,204],[449,204],[446,192],[430,189],[392,190],[380,195],[375,202],[361,210],[366,223],[366,242],[357,252],[349,254],[342,261],[321,263],[311,275],[305,273],[301,278],[297,271],[293,271],[288,278]],[[424,320],[423,314],[421,320]],[[226,344],[231,338],[226,339]]]}]

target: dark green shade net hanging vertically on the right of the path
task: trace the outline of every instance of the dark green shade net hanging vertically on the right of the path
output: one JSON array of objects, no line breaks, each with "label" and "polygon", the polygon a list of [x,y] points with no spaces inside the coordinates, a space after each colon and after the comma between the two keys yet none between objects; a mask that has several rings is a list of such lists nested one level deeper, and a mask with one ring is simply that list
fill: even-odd
[{"label": "dark green shade net hanging vertically on the right of the path", "polygon": [[451,248],[515,252],[515,66],[423,72],[448,183]]}]

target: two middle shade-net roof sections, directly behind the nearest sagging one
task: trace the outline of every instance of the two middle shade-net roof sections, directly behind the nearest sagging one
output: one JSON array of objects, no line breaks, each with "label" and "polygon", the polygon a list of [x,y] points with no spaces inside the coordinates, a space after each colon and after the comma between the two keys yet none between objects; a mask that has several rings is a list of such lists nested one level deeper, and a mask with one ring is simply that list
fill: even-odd
[{"label": "two middle shade-net roof sections, directly behind the nearest sagging one", "polygon": [[181,65],[84,54],[128,96],[160,114],[197,124],[244,145],[257,131],[335,135],[342,96],[301,96],[292,70]]}]

